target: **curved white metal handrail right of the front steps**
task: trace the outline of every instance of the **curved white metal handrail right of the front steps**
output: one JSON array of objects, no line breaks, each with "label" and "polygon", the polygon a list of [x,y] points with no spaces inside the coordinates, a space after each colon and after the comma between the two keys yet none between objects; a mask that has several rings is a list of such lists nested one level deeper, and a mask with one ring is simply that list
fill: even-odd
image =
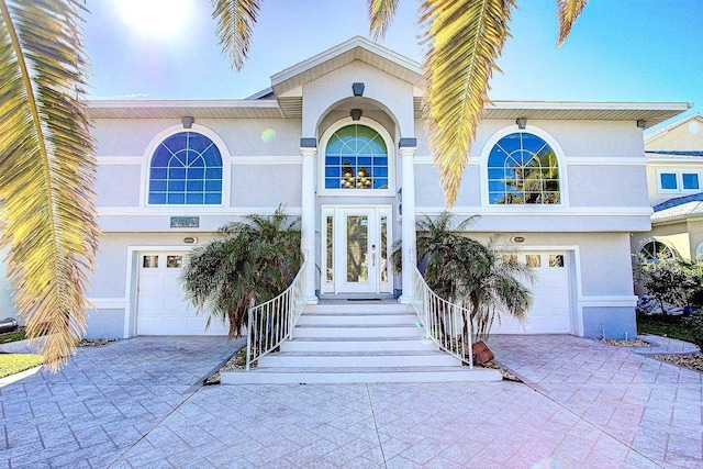
[{"label": "curved white metal handrail right of the front steps", "polygon": [[470,311],[432,291],[417,267],[413,266],[412,269],[415,287],[412,305],[425,328],[425,336],[440,349],[473,368]]}]

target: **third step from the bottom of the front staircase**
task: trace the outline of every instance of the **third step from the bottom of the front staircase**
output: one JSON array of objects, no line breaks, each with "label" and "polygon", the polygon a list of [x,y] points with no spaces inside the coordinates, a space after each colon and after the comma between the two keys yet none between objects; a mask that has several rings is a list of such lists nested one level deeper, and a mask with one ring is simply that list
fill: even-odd
[{"label": "third step from the bottom of the front staircase", "polygon": [[280,351],[417,351],[438,350],[434,342],[424,337],[378,338],[294,338],[281,344]]}]

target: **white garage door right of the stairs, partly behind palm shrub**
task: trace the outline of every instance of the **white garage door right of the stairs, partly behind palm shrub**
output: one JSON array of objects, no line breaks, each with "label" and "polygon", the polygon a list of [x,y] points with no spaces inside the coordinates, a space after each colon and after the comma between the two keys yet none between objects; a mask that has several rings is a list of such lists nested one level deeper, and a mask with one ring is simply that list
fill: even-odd
[{"label": "white garage door right of the stairs, partly behind palm shrub", "polygon": [[491,334],[569,334],[571,333],[571,301],[567,253],[521,253],[517,261],[531,267],[534,284],[525,282],[533,292],[533,308],[523,324],[501,314]]}]

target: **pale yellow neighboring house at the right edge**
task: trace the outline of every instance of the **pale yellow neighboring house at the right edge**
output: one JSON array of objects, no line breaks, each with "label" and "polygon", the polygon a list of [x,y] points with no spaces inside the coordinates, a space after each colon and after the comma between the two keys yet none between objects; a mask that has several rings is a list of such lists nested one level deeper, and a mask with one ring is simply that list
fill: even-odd
[{"label": "pale yellow neighboring house at the right edge", "polygon": [[636,233],[635,255],[703,255],[703,116],[689,115],[645,136],[651,231]]}]

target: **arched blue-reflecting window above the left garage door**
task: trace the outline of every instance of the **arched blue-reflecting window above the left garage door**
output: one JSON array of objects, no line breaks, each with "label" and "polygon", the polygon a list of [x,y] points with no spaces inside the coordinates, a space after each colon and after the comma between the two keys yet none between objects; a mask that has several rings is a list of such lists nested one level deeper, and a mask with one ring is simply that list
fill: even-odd
[{"label": "arched blue-reflecting window above the left garage door", "polygon": [[222,156],[197,132],[179,132],[161,142],[149,167],[150,204],[222,203]]}]

